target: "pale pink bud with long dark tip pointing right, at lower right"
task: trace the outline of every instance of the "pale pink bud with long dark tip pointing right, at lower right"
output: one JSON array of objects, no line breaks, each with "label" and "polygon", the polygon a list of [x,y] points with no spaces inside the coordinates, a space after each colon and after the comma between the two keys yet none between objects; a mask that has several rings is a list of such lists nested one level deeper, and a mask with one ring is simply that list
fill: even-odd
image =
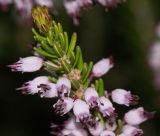
[{"label": "pale pink bud with long dark tip pointing right, at lower right", "polygon": [[148,118],[152,118],[153,116],[153,112],[146,112],[142,107],[140,107],[128,111],[124,116],[124,120],[129,125],[139,125],[146,121]]}]

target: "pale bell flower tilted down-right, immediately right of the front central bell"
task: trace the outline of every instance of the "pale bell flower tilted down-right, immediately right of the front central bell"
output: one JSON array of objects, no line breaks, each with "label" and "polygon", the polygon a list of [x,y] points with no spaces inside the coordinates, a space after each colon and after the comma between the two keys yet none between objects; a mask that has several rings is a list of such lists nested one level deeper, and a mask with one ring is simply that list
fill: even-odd
[{"label": "pale bell flower tilted down-right, immediately right of the front central bell", "polygon": [[100,97],[100,104],[99,104],[99,110],[103,114],[103,116],[111,116],[114,117],[114,107],[111,103],[111,101],[104,96]]}]

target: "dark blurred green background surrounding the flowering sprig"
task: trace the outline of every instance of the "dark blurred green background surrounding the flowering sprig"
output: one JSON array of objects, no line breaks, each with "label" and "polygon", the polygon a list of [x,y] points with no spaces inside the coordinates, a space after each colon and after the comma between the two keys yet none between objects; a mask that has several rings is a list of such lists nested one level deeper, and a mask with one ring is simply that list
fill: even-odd
[{"label": "dark blurred green background surrounding the flowering sprig", "polygon": [[[12,73],[6,68],[19,57],[31,55],[34,43],[30,27],[18,21],[15,14],[13,7],[0,12],[0,136],[48,136],[50,122],[57,118],[53,115],[53,101],[15,91],[22,83],[44,73]],[[138,106],[156,111],[153,120],[141,125],[144,135],[160,136],[160,89],[153,86],[153,72],[147,60],[149,48],[156,40],[155,27],[160,22],[160,1],[128,0],[109,12],[96,6],[83,12],[78,27],[59,5],[55,20],[69,35],[78,33],[85,61],[113,56],[115,67],[104,76],[106,89],[124,88],[139,95]]]}]

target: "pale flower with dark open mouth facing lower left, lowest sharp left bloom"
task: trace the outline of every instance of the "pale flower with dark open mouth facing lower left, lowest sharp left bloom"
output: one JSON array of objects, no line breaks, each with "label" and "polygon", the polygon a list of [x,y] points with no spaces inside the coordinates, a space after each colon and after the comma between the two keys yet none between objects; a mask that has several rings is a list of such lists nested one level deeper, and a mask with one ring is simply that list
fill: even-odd
[{"label": "pale flower with dark open mouth facing lower left, lowest sharp left bloom", "polygon": [[73,99],[70,97],[63,97],[57,101],[56,104],[53,105],[55,108],[56,114],[63,116],[68,113],[73,107]]}]

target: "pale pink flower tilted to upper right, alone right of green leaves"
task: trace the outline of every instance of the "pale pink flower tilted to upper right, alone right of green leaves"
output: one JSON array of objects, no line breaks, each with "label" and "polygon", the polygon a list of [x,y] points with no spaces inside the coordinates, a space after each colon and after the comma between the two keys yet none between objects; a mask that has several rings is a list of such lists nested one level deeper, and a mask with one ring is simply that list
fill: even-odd
[{"label": "pale pink flower tilted to upper right, alone right of green leaves", "polygon": [[111,58],[106,58],[98,61],[92,69],[94,77],[101,77],[106,74],[113,67]]}]

